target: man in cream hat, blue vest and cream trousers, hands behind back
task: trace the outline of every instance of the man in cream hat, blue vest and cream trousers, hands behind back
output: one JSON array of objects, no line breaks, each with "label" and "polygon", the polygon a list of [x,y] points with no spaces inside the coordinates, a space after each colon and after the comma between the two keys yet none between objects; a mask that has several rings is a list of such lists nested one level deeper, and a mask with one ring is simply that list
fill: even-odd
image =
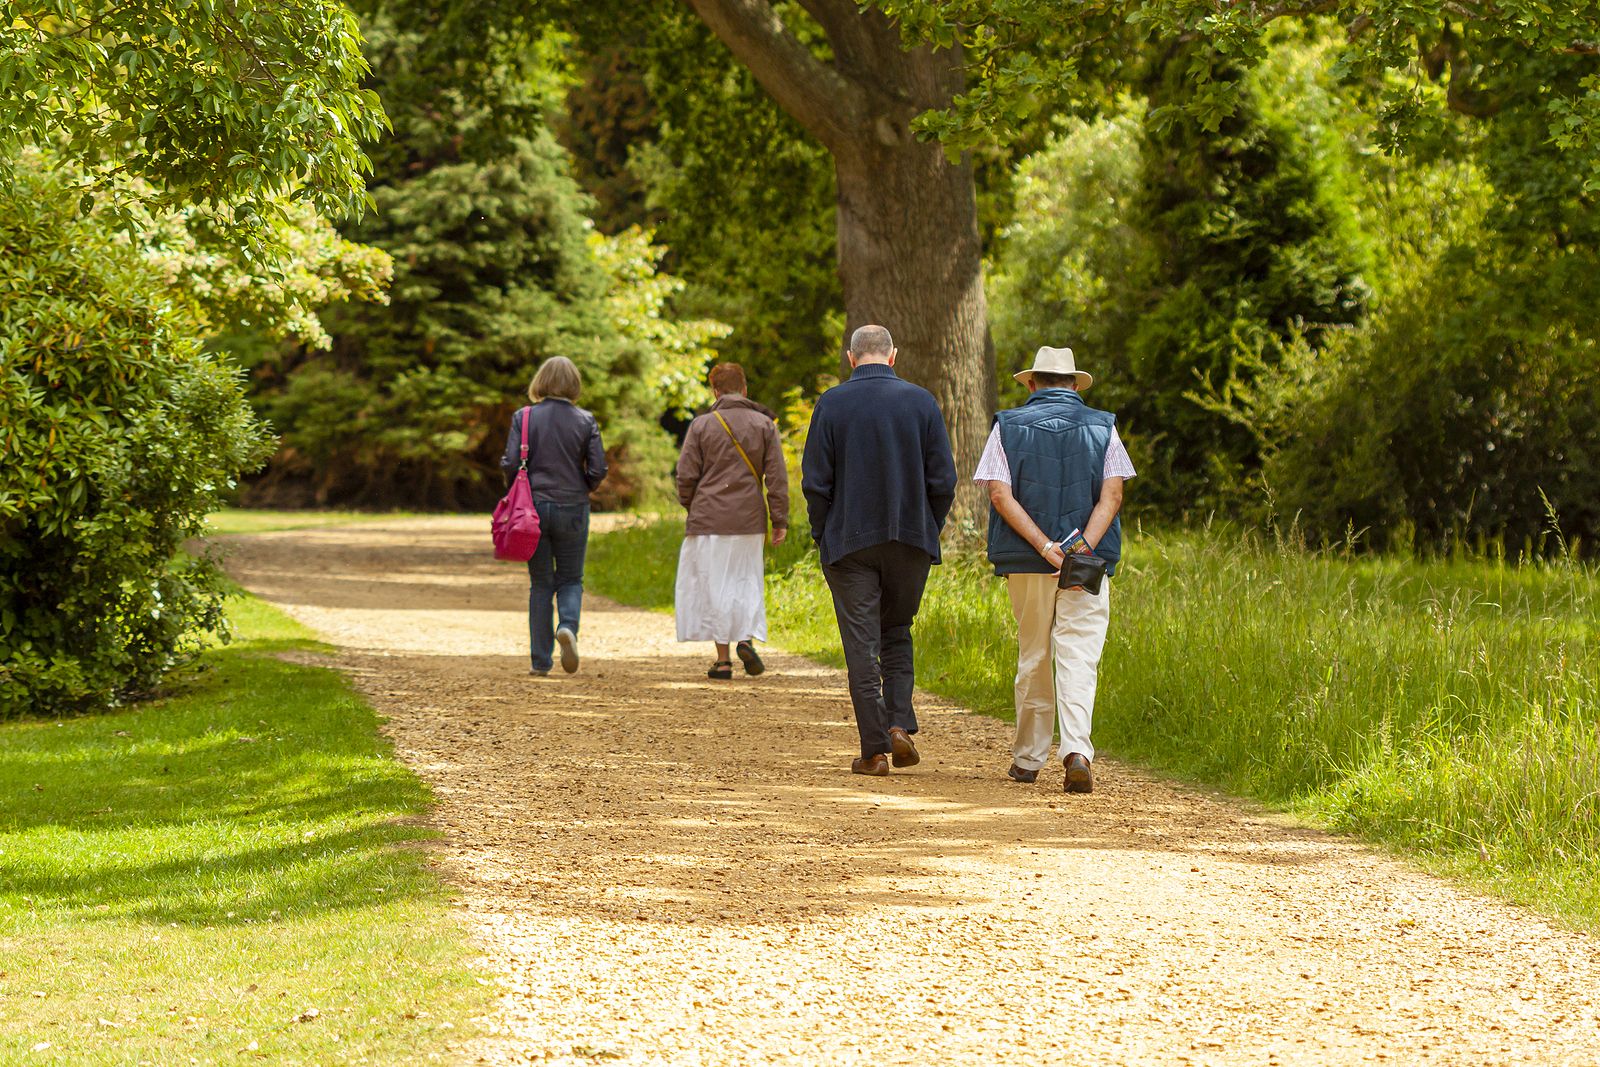
[{"label": "man in cream hat, blue vest and cream trousers, hands behind back", "polygon": [[995,416],[973,475],[989,483],[989,561],[1006,579],[1018,627],[1016,739],[1006,774],[1037,781],[1059,721],[1064,789],[1086,793],[1094,789],[1090,725],[1110,582],[1090,593],[1058,589],[1056,577],[1062,541],[1074,533],[1083,537],[1078,550],[1106,560],[1107,576],[1117,571],[1117,512],[1134,470],[1117,416],[1083,403],[1080,394],[1094,379],[1077,368],[1072,349],[1042,347],[1016,379],[1027,386],[1027,403]]}]

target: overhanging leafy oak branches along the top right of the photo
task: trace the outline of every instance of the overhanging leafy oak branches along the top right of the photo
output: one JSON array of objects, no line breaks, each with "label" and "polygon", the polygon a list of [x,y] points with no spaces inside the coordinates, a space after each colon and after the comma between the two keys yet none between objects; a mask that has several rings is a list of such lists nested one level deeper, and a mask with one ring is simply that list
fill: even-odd
[{"label": "overhanging leafy oak branches along the top right of the photo", "polygon": [[[490,2],[490,0],[478,0]],[[1038,112],[1072,106],[1125,77],[1138,42],[1205,42],[1253,67],[1285,22],[1336,27],[1341,72],[1366,80],[1362,101],[1386,144],[1427,138],[1446,112],[1494,117],[1506,91],[1528,98],[1539,141],[1568,154],[1600,186],[1600,8],[1594,3],[1498,0],[1374,5],[1214,0],[869,0],[909,42],[960,48],[974,74],[950,107],[918,126],[954,149],[1014,138]],[[1389,74],[1398,77],[1387,77]],[[1173,109],[1216,130],[1242,88],[1189,72],[1194,88]]]}]

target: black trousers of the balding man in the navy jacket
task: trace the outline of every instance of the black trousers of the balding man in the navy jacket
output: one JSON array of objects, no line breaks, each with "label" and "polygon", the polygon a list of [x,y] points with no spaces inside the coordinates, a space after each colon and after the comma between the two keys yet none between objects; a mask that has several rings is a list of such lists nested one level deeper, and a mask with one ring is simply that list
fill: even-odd
[{"label": "black trousers of the balding man in the navy jacket", "polygon": [[922,606],[931,565],[922,549],[886,541],[822,568],[845,645],[862,757],[890,750],[890,726],[917,733],[910,622]]}]

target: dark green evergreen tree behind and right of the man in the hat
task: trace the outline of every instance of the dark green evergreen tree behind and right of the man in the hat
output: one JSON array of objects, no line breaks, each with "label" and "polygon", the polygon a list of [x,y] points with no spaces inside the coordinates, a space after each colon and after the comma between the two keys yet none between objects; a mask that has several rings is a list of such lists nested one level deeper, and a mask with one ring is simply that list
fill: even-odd
[{"label": "dark green evergreen tree behind and right of the man in the hat", "polygon": [[1123,416],[1146,434],[1174,509],[1224,502],[1259,467],[1250,430],[1197,400],[1251,381],[1291,336],[1315,346],[1355,323],[1366,302],[1344,146],[1314,142],[1259,80],[1205,130],[1182,109],[1197,64],[1206,85],[1245,80],[1198,46],[1160,64],[1136,195],[1155,270],[1120,354]]}]

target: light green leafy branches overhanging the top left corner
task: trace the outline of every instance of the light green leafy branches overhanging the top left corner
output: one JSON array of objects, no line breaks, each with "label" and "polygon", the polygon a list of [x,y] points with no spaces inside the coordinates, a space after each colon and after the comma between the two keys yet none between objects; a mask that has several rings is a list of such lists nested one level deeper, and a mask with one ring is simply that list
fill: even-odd
[{"label": "light green leafy branches overhanging the top left corner", "polygon": [[[21,147],[70,158],[85,203],[205,202],[234,240],[286,197],[358,208],[360,34],[338,0],[14,0],[0,8],[0,181]],[[123,178],[139,178],[130,184]]]}]

